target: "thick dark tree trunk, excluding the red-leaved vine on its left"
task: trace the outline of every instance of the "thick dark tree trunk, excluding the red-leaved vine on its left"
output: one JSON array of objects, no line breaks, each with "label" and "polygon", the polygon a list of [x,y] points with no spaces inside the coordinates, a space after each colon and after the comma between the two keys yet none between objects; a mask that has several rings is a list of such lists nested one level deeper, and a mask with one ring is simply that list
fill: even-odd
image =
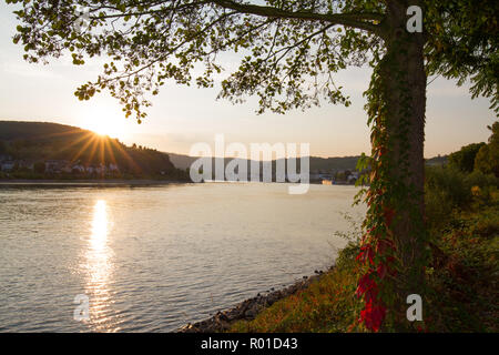
[{"label": "thick dark tree trunk, excluding the red-leaved vine on its left", "polygon": [[[416,1],[417,2],[417,1]],[[393,206],[393,235],[400,261],[397,303],[409,294],[424,297],[424,141],[427,77],[424,33],[409,33],[406,1],[389,1],[385,28],[387,53],[381,67]],[[422,4],[421,4],[422,8]]]}]

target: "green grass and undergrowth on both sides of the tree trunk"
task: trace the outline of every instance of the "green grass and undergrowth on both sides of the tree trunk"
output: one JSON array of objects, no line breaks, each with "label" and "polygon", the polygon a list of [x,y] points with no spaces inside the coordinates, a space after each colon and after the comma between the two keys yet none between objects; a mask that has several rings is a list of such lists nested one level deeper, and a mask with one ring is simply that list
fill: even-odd
[{"label": "green grass and undergrowth on both sides of the tree trunk", "polygon": [[[427,207],[435,212],[428,221],[434,251],[427,268],[428,294],[424,295],[426,331],[499,332],[497,181],[485,179],[480,187],[473,183],[483,176],[450,176],[460,189],[447,184],[446,190],[438,179],[451,172],[437,173],[426,192]],[[439,195],[447,200],[439,201]],[[263,310],[255,320],[235,323],[231,332],[359,331],[359,304],[354,296],[357,253],[358,242],[349,243],[336,266],[318,281]]]}]

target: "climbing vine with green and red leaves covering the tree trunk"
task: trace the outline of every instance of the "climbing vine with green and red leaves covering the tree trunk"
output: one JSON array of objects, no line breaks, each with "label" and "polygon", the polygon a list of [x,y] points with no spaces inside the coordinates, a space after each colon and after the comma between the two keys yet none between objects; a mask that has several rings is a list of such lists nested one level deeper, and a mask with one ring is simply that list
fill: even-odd
[{"label": "climbing vine with green and red leaves covering the tree trunk", "polygon": [[[399,325],[401,320],[403,295],[410,288],[422,290],[420,270],[404,260],[408,250],[419,248],[425,237],[422,211],[416,201],[420,196],[410,183],[408,139],[411,124],[411,102],[408,90],[407,72],[397,67],[404,50],[394,43],[397,50],[388,50],[377,60],[371,82],[365,95],[368,125],[371,131],[371,156],[363,156],[358,170],[370,169],[368,189],[363,189],[356,202],[367,205],[364,221],[365,233],[357,256],[359,280],[356,296],[363,301],[359,324],[367,329],[378,332],[384,324]],[[394,84],[395,83],[395,84]],[[398,92],[394,101],[394,85]],[[391,100],[391,101],[390,101]],[[363,184],[365,181],[359,181]],[[408,214],[408,215],[407,215]],[[407,219],[409,216],[409,219]],[[410,237],[404,241],[394,231],[400,221],[410,221],[406,227]],[[407,243],[413,241],[414,243]],[[414,262],[425,264],[425,258],[414,257]],[[417,286],[415,286],[417,285]]]}]

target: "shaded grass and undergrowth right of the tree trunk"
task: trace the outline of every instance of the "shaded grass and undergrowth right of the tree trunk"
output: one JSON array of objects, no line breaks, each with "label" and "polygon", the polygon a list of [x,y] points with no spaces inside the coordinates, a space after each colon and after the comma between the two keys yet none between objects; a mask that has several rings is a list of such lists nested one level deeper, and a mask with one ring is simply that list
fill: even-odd
[{"label": "shaded grass and undergrowth right of the tree trunk", "polygon": [[499,332],[499,204],[456,211],[436,241],[429,321],[439,332]]}]

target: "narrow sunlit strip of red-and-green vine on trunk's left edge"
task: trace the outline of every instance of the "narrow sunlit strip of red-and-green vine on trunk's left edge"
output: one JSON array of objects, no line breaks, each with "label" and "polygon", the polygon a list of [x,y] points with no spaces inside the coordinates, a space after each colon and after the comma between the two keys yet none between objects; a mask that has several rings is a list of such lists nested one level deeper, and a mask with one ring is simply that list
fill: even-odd
[{"label": "narrow sunlit strip of red-and-green vine on trunk's left edge", "polygon": [[[369,90],[366,92],[368,104],[366,110],[371,126],[371,156],[359,162],[359,169],[370,168],[369,187],[365,192],[367,214],[364,221],[365,234],[361,240],[360,253],[357,261],[360,266],[360,278],[356,296],[364,301],[365,307],[360,312],[359,322],[370,331],[379,331],[386,318],[387,295],[393,290],[393,277],[397,272],[395,244],[390,235],[390,224],[395,211],[390,206],[389,196],[389,161],[388,135],[386,131],[386,98],[380,90],[383,85],[381,60],[375,68]],[[363,165],[364,164],[364,165]]]}]

